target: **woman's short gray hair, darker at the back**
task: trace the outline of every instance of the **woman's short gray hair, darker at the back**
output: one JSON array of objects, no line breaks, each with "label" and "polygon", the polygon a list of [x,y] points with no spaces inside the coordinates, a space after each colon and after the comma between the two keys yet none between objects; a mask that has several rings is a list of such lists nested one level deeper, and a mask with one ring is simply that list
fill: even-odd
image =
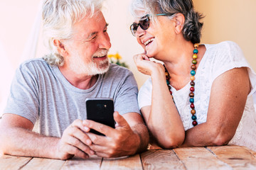
[{"label": "woman's short gray hair, darker at the back", "polygon": [[131,12],[135,18],[141,18],[140,11],[151,14],[156,20],[157,13],[182,13],[185,16],[183,37],[192,43],[199,43],[203,22],[203,15],[193,8],[192,0],[133,0]]}]

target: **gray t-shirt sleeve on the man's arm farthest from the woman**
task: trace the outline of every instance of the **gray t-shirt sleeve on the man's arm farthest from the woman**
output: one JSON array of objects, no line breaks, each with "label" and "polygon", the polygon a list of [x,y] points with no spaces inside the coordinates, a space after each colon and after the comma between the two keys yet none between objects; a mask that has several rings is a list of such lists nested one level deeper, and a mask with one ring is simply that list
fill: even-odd
[{"label": "gray t-shirt sleeve on the man's arm farthest from the woman", "polygon": [[13,113],[27,118],[33,124],[38,118],[38,85],[36,72],[21,64],[11,83],[10,95],[4,113]]}]

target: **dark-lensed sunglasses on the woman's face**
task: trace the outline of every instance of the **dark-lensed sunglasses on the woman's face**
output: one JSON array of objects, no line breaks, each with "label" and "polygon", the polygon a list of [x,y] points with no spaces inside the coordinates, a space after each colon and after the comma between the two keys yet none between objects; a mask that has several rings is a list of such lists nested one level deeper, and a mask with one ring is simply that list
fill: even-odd
[{"label": "dark-lensed sunglasses on the woman's face", "polygon": [[[172,13],[158,13],[156,16],[172,16]],[[137,32],[138,28],[142,28],[142,30],[146,30],[149,28],[149,14],[146,14],[143,16],[140,20],[139,23],[132,23],[130,26],[130,30],[132,32],[132,35],[135,36],[135,33]]]}]

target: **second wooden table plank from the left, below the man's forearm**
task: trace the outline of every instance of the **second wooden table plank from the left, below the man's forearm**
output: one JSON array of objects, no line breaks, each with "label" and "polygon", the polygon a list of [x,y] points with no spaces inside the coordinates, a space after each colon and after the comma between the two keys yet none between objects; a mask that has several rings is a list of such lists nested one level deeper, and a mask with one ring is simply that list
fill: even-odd
[{"label": "second wooden table plank from the left, below the man's forearm", "polygon": [[44,159],[44,158],[33,158],[31,159],[22,170],[25,169],[61,169],[65,164],[65,161],[58,159]]}]

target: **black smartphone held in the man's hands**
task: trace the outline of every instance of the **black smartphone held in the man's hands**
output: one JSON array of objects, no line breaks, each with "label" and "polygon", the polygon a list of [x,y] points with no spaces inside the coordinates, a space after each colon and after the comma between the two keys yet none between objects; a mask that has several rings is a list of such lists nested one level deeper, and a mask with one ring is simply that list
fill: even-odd
[{"label": "black smartphone held in the man's hands", "polygon": [[[94,120],[114,128],[114,101],[112,98],[87,98],[85,100],[87,119]],[[97,135],[103,135],[101,132],[91,129]]]}]

